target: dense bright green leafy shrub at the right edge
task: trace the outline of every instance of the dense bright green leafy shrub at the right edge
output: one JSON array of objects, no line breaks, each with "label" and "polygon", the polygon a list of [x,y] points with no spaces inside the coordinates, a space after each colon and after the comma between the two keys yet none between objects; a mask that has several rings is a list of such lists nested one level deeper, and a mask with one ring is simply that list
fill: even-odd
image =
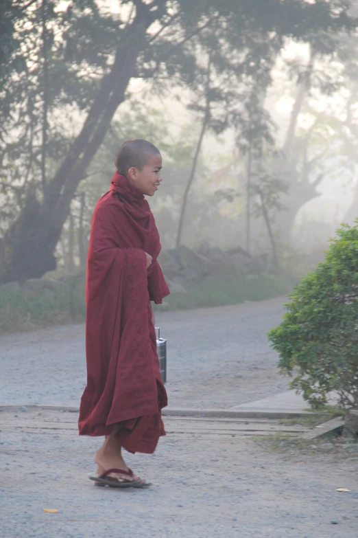
[{"label": "dense bright green leafy shrub at the right edge", "polygon": [[269,333],[281,373],[314,408],[332,391],[342,407],[357,407],[358,221],[337,231],[324,262],[290,298],[283,322]]}]

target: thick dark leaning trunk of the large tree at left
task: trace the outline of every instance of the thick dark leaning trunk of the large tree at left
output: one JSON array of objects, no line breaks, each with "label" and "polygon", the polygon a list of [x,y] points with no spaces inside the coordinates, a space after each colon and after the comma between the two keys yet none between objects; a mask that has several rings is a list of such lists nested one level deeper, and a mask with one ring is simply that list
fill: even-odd
[{"label": "thick dark leaning trunk of the large tree at left", "polygon": [[124,31],[112,68],[102,79],[82,130],[45,186],[43,201],[38,201],[34,192],[27,194],[21,214],[4,237],[5,263],[0,267],[0,283],[40,278],[47,271],[56,269],[53,253],[69,215],[71,200],[104,140],[115,111],[124,100],[153,17],[154,14],[142,4],[134,21]]}]

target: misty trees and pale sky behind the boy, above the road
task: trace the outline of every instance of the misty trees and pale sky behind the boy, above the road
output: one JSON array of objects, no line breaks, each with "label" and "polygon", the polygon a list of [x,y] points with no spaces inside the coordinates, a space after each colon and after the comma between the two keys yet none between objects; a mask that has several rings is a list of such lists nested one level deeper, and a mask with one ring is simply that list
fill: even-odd
[{"label": "misty trees and pale sky behind the boy, above the road", "polygon": [[[21,308],[44,317],[44,279],[71,282],[83,311],[91,216],[131,138],[163,155],[149,202],[176,306],[291,291],[358,216],[357,14],[345,0],[1,0],[3,291],[27,290]],[[209,300],[228,280],[256,291]]]}]

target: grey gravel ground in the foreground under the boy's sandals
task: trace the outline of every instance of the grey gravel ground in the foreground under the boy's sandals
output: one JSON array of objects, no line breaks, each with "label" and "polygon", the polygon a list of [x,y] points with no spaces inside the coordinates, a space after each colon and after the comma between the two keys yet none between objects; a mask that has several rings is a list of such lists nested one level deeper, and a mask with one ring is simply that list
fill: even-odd
[{"label": "grey gravel ground in the foreground under the boy's sandals", "polygon": [[4,429],[1,538],[357,538],[357,452],[281,454],[262,439],[173,434],[154,456],[128,456],[152,488],[114,490],[86,476],[99,443],[75,429]]}]

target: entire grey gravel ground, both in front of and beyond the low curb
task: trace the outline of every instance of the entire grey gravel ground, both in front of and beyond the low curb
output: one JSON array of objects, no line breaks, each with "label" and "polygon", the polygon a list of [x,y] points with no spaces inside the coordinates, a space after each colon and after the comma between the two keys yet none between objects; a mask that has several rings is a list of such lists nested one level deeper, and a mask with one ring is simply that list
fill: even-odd
[{"label": "entire grey gravel ground, both in front of and beyond the low curb", "polygon": [[[282,302],[158,314],[169,341],[170,405],[232,407],[287,390],[265,336]],[[1,403],[78,405],[84,327],[1,337],[0,368]],[[1,538],[358,535],[357,454],[273,453],[247,437],[174,434],[153,456],[128,455],[152,488],[118,491],[86,476],[98,438],[7,427],[0,436]]]}]

